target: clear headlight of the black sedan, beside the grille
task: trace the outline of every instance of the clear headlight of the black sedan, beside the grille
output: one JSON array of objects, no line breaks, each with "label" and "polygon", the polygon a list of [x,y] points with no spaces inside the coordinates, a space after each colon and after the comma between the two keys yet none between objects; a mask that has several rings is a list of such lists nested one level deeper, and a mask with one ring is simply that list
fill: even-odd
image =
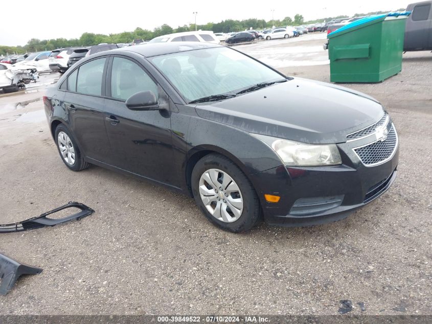
[{"label": "clear headlight of the black sedan, beside the grille", "polygon": [[336,144],[312,145],[259,134],[251,135],[270,146],[288,166],[342,164]]}]

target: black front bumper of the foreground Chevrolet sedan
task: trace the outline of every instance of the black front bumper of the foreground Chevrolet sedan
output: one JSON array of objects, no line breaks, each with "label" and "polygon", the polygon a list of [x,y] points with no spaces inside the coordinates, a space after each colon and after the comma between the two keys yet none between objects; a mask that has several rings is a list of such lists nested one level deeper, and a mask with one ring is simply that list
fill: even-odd
[{"label": "black front bumper of the foreground Chevrolet sedan", "polygon": [[[395,181],[399,144],[391,158],[367,166],[354,148],[370,141],[365,138],[337,144],[341,165],[282,165],[249,176],[260,198],[266,223],[288,227],[329,223],[347,217],[381,196]],[[264,199],[265,194],[280,196],[280,201],[269,203]]]}]

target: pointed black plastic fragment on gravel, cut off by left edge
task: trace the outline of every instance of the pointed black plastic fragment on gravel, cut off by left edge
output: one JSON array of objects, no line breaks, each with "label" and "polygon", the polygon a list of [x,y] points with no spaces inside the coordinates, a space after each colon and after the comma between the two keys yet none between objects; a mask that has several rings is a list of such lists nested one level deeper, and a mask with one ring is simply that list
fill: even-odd
[{"label": "pointed black plastic fragment on gravel, cut off by left edge", "polygon": [[23,274],[38,274],[42,269],[21,264],[0,253],[0,295],[6,295],[15,285],[16,280]]}]

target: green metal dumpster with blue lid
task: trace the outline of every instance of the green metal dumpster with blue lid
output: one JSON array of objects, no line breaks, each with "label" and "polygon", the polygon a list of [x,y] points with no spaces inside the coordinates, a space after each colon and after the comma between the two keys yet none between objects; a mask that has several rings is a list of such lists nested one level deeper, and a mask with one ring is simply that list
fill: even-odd
[{"label": "green metal dumpster with blue lid", "polygon": [[370,16],[329,33],[330,81],[381,82],[398,74],[409,14]]}]

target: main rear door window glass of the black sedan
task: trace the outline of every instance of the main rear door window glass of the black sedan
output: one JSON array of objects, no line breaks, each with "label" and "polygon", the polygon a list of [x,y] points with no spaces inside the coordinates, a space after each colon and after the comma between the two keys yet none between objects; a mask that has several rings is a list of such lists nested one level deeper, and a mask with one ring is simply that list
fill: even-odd
[{"label": "main rear door window glass of the black sedan", "polygon": [[102,77],[106,58],[98,58],[80,66],[77,92],[85,95],[102,95]]}]

